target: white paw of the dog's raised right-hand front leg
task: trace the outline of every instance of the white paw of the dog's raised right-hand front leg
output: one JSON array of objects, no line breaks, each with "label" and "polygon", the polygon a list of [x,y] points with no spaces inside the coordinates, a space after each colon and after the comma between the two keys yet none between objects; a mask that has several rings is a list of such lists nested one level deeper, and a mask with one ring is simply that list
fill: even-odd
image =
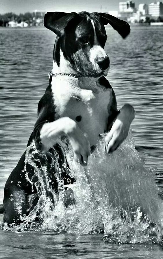
[{"label": "white paw of the dog's raised right-hand front leg", "polygon": [[129,125],[124,124],[119,119],[116,119],[110,132],[106,135],[104,140],[105,152],[107,154],[116,150],[116,148],[123,142],[123,140],[126,139],[129,131]]}]

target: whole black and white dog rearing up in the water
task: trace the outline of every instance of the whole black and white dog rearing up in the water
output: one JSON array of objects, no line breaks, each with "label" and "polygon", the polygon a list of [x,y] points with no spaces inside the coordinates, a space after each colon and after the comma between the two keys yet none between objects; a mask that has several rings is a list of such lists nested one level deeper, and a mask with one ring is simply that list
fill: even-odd
[{"label": "whole black and white dog rearing up in the water", "polygon": [[[117,111],[114,91],[105,78],[110,67],[104,50],[107,40],[104,25],[108,23],[123,38],[130,32],[127,22],[105,13],[48,12],[44,18],[44,26],[57,35],[53,70],[49,74],[49,86],[38,104],[38,119],[27,146],[34,140],[40,154],[46,153],[51,188],[56,192],[55,169],[48,155],[53,154],[52,147],[59,154],[63,183],[75,181],[68,175],[68,165],[67,170],[62,166],[66,161],[60,144],[63,136],[72,146],[74,160],[85,166],[99,134],[108,132],[105,151],[112,152],[127,137],[135,116],[129,104]],[[18,224],[23,215],[29,214],[28,196],[37,193],[31,181],[35,184],[38,179],[30,164],[25,167],[25,154],[26,151],[5,184],[3,210],[4,222],[8,224]]]}]

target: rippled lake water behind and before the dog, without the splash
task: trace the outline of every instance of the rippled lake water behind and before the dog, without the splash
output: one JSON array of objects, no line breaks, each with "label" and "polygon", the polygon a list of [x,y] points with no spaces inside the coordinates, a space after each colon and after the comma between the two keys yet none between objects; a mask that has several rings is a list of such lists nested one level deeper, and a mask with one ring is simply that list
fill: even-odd
[{"label": "rippled lake water behind and before the dog, without the splash", "polygon": [[[105,49],[111,59],[107,78],[116,93],[118,108],[121,108],[124,103],[134,106],[136,117],[132,123],[132,129],[136,146],[142,159],[146,160],[146,169],[157,166],[157,169],[151,172],[153,175],[151,181],[154,184],[153,178],[156,172],[156,179],[162,188],[163,63],[160,57],[160,53],[163,52],[162,28],[133,27],[126,40],[121,39],[114,30],[107,29],[107,32],[109,37]],[[5,181],[24,152],[36,121],[37,104],[45,92],[48,73],[52,67],[55,36],[51,31],[39,28],[36,30],[0,29],[0,35],[0,141],[5,140],[0,150],[0,202],[2,202]],[[150,189],[145,190],[147,193],[150,191]],[[8,258],[11,254],[15,258],[28,258],[27,253],[30,258],[32,256],[40,258],[40,254],[43,258],[45,256],[53,258],[54,250],[56,254],[60,254],[60,258],[65,258],[62,251],[70,256],[90,258],[90,255],[86,255],[86,250],[91,251],[92,258],[105,258],[109,251],[109,256],[113,258],[162,257],[159,247],[153,244],[114,246],[105,244],[97,236],[96,239],[91,235],[80,236],[80,240],[88,241],[86,246],[83,246],[80,240],[73,243],[72,235],[52,234],[51,236],[51,234],[42,233],[31,235],[11,232],[2,232],[1,235],[1,254],[3,255],[5,249]],[[51,236],[51,239],[47,236]],[[27,252],[22,252],[23,249],[16,247],[15,238],[20,248],[25,247],[22,237],[25,238]],[[68,244],[67,240],[75,244],[75,249],[72,247],[63,249],[63,244]],[[42,247],[43,243],[45,247]],[[101,253],[97,251],[99,247],[102,250]],[[18,251],[22,254],[18,255]]]}]

